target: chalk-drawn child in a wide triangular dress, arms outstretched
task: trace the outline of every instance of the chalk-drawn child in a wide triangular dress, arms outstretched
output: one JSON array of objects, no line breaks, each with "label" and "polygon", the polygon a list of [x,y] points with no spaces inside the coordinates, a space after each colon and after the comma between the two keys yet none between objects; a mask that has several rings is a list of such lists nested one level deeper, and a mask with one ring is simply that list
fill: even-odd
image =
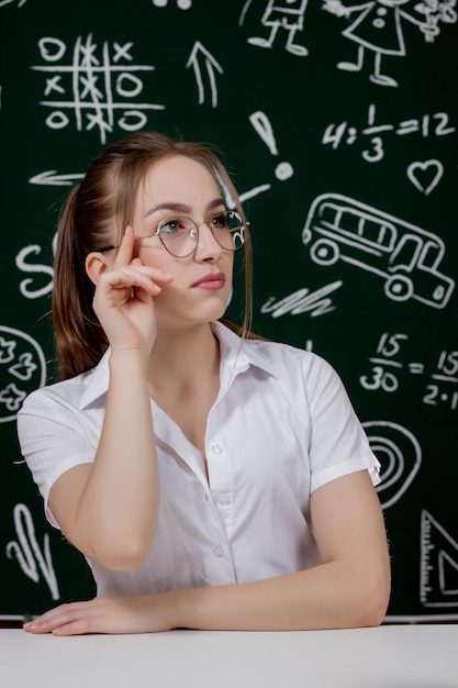
[{"label": "chalk-drawn child in a wide triangular dress, arms outstretched", "polygon": [[407,20],[416,24],[426,36],[435,36],[439,33],[437,25],[427,21],[412,16],[400,9],[400,5],[410,0],[373,0],[365,4],[345,7],[340,0],[325,0],[323,9],[337,16],[349,16],[354,12],[359,12],[357,19],[343,31],[346,38],[358,44],[358,58],[356,64],[342,62],[338,69],[346,71],[360,71],[365,59],[365,49],[375,54],[373,73],[369,79],[373,84],[381,86],[398,86],[392,77],[380,74],[380,62],[382,55],[405,56],[405,42],[402,32],[401,20]]}]

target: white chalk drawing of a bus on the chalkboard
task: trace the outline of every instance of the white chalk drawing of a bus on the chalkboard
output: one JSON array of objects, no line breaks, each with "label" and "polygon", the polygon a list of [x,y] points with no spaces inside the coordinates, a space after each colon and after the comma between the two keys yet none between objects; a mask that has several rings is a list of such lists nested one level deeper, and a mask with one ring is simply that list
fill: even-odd
[{"label": "white chalk drawing of a bus on the chalkboard", "polygon": [[302,241],[319,265],[340,259],[383,277],[394,301],[413,298],[445,308],[455,288],[437,269],[445,254],[442,238],[339,193],[313,201]]}]

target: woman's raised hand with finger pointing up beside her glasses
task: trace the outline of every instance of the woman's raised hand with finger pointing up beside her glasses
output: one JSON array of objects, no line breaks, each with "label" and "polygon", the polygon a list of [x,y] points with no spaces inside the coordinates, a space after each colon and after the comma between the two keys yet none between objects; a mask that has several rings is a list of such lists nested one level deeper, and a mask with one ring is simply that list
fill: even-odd
[{"label": "woman's raised hand with finger pointing up beside her glasses", "polygon": [[172,277],[134,257],[135,233],[127,226],[114,259],[96,286],[93,310],[112,349],[143,349],[148,356],[157,334],[154,298]]}]

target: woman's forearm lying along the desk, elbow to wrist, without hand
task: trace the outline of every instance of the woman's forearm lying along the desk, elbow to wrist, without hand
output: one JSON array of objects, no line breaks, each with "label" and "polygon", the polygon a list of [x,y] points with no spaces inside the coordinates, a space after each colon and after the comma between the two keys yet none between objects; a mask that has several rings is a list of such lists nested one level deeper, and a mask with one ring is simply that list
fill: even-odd
[{"label": "woman's forearm lying along the desk, elbow to wrist, without hand", "polygon": [[281,631],[379,625],[389,590],[383,567],[369,575],[333,562],[257,582],[171,593],[174,626]]}]

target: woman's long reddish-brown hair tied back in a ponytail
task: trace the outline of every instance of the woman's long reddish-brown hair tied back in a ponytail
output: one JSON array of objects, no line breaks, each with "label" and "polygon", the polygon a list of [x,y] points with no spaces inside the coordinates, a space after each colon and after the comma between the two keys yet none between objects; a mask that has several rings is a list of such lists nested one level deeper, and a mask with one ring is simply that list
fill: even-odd
[{"label": "woman's long reddish-brown hair tied back in a ponytail", "polygon": [[[208,147],[155,132],[133,134],[109,145],[91,164],[81,184],[68,196],[59,217],[54,263],[53,324],[60,379],[89,370],[108,348],[105,333],[92,308],[94,285],[86,273],[86,257],[101,247],[120,244],[132,221],[137,192],[150,167],[170,155],[203,165],[215,179],[226,204],[246,222],[235,187],[217,156]],[[245,314],[242,336],[252,319],[252,242],[245,229],[243,267]]]}]

